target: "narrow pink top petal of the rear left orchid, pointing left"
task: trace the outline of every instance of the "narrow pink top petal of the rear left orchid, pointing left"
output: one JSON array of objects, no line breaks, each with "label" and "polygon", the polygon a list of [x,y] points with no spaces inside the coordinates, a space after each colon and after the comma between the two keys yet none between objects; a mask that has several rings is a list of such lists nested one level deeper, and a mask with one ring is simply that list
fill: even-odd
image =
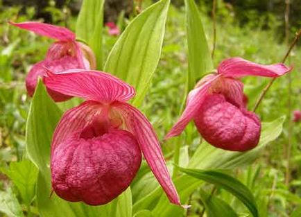
[{"label": "narrow pink top petal of the rear left orchid, pointing left", "polygon": [[76,35],[69,31],[68,28],[61,27],[61,26],[54,26],[51,24],[43,24],[40,22],[34,22],[34,21],[27,21],[23,23],[14,23],[9,22],[9,24],[12,24],[13,26],[17,26],[19,28],[26,29],[28,31],[33,31],[34,33],[38,35],[43,35],[46,37],[51,37],[56,40],[60,41],[75,41]]}]

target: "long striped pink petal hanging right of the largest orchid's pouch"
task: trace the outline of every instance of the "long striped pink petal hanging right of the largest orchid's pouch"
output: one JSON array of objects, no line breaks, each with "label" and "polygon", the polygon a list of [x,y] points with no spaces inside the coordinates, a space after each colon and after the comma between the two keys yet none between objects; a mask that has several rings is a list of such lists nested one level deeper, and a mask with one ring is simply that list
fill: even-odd
[{"label": "long striped pink petal hanging right of the largest orchid's pouch", "polygon": [[161,184],[169,200],[175,205],[180,205],[180,198],[167,170],[160,142],[148,119],[128,103],[116,102],[112,106],[114,110],[117,110],[123,116],[128,131],[136,137],[146,162],[148,162],[150,169]]}]

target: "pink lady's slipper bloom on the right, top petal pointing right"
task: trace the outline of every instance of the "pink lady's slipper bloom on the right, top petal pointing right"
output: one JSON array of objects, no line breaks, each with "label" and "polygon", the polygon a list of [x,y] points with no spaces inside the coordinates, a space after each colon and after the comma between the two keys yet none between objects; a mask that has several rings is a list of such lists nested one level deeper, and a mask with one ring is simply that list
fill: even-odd
[{"label": "pink lady's slipper bloom on the right, top petal pointing right", "polygon": [[284,64],[261,65],[242,58],[219,64],[216,74],[201,79],[187,98],[186,108],[165,139],[180,134],[193,120],[202,137],[217,148],[245,151],[259,142],[261,122],[246,108],[243,76],[277,77],[291,71]]}]

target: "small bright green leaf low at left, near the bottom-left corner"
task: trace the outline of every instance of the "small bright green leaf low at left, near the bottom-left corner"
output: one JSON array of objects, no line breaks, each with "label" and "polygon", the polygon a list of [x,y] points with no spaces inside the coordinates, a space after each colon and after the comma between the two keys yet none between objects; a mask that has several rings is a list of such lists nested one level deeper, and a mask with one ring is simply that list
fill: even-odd
[{"label": "small bright green leaf low at left, near the bottom-left corner", "polygon": [[10,168],[2,170],[10,180],[17,186],[22,200],[30,205],[35,196],[35,182],[37,181],[37,168],[28,159],[22,162],[11,162]]}]

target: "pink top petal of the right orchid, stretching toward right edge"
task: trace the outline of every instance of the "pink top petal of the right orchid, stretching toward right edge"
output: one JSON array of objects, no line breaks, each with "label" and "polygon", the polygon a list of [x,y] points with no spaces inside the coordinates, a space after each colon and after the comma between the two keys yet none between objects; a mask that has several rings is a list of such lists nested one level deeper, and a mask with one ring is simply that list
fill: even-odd
[{"label": "pink top petal of the right orchid, stretching toward right edge", "polygon": [[243,76],[278,77],[291,71],[292,67],[286,67],[282,63],[263,65],[244,60],[243,58],[229,58],[218,65],[218,73],[233,78]]}]

